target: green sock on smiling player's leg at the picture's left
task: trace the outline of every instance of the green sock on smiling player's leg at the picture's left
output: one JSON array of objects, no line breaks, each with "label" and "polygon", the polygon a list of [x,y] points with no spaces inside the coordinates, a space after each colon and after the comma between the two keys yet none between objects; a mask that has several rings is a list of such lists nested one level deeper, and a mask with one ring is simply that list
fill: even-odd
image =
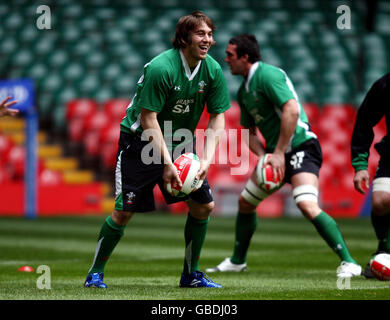
[{"label": "green sock on smiling player's leg at the picture's left", "polygon": [[95,258],[88,273],[104,272],[108,258],[122,238],[125,227],[116,224],[111,216],[107,217],[100,230]]}]

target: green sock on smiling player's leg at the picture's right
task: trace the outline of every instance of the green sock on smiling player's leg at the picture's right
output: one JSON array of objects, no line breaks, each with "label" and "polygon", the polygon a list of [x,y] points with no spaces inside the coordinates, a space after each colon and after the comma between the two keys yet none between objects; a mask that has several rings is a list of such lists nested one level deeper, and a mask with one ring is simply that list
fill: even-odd
[{"label": "green sock on smiling player's leg at the picture's right", "polygon": [[183,273],[189,274],[199,270],[200,252],[206,239],[209,218],[199,220],[188,214],[184,228],[186,251],[184,257]]}]

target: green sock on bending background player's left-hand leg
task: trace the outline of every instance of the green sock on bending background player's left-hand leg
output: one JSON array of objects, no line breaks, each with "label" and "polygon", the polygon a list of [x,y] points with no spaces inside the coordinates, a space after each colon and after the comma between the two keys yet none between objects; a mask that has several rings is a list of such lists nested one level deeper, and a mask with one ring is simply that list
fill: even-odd
[{"label": "green sock on bending background player's left-hand leg", "polygon": [[257,228],[257,214],[238,213],[236,218],[236,235],[234,242],[233,256],[230,261],[235,264],[242,264],[246,261],[249,244]]}]

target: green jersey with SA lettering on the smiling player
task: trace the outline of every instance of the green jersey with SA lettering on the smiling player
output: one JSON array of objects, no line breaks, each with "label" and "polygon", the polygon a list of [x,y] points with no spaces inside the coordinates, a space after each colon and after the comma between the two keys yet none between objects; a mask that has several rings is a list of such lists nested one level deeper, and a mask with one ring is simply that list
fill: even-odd
[{"label": "green jersey with SA lettering on the smiling player", "polygon": [[[141,108],[155,111],[167,148],[172,150],[193,139],[205,104],[207,112],[212,114],[222,113],[230,107],[221,66],[207,55],[191,72],[183,53],[170,49],[144,66],[136,94],[121,122],[121,130],[141,134]],[[184,137],[183,130],[177,131],[179,129],[188,129],[191,136]]]}]

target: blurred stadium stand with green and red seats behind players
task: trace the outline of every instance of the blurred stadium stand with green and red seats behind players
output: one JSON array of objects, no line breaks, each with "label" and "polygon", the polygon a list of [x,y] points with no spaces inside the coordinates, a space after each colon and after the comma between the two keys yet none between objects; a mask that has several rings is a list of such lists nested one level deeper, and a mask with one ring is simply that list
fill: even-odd
[{"label": "blurred stadium stand with green and red seats behind players", "polygon": [[[353,15],[351,29],[345,30],[336,26],[339,1],[48,0],[48,30],[39,30],[35,24],[40,4],[33,0],[0,3],[0,77],[34,80],[44,181],[87,183],[100,172],[112,174],[118,123],[135,92],[142,66],[171,46],[178,17],[200,9],[217,25],[217,45],[211,55],[223,67],[233,101],[226,114],[227,130],[239,127],[234,100],[241,79],[232,76],[223,62],[225,45],[233,35],[254,33],[263,60],[280,66],[291,77],[322,143],[322,201],[328,204],[326,209],[333,214],[358,210],[354,205],[361,201],[354,201],[352,192],[349,139],[356,107],[373,81],[390,69],[388,1],[378,1],[371,31],[365,24],[364,1],[343,1]],[[198,128],[206,124],[204,115]],[[7,125],[23,126],[23,122],[1,122],[0,181],[15,179],[14,173],[5,169],[12,157],[13,172],[22,175],[23,170],[17,163],[23,153],[19,148],[24,134],[17,128],[8,130]],[[383,124],[377,130],[381,132],[381,128]],[[61,147],[47,143],[58,135],[65,137],[57,141]],[[220,150],[218,155],[227,152]],[[98,159],[98,165],[88,168],[90,162],[83,160],[88,157]],[[249,158],[253,166],[255,159]],[[213,166],[209,180],[215,185],[243,184],[247,175],[231,177],[226,173],[230,165]],[[79,171],[64,174],[60,168]],[[335,185],[346,190],[349,205],[340,198],[344,192],[332,193]],[[112,205],[112,199],[105,203]]]}]

